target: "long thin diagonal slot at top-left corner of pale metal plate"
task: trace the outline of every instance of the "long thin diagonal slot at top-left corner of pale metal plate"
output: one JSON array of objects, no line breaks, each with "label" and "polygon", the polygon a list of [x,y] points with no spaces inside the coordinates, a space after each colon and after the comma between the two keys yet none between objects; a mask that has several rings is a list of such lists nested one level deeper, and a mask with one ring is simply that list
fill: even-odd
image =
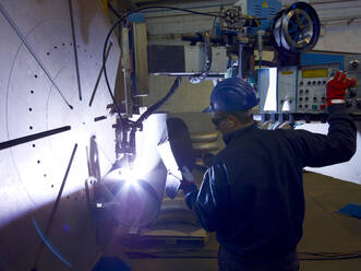
[{"label": "long thin diagonal slot at top-left corner of pale metal plate", "polygon": [[10,14],[4,9],[4,7],[1,4],[1,2],[0,2],[0,12],[5,17],[5,20],[11,25],[11,27],[14,30],[14,32],[20,37],[20,39],[23,42],[23,44],[25,45],[25,47],[27,48],[27,50],[31,52],[31,55],[33,56],[33,58],[35,59],[35,61],[40,66],[41,70],[45,72],[45,74],[47,75],[47,78],[50,80],[51,84],[53,84],[53,86],[56,87],[56,90],[58,91],[58,93],[60,94],[60,96],[62,97],[62,99],[67,103],[67,105],[71,109],[73,109],[73,106],[71,104],[69,104],[69,102],[67,101],[67,98],[63,96],[63,94],[61,93],[60,89],[56,84],[55,80],[50,75],[49,71],[45,68],[45,66],[41,62],[40,58],[36,55],[35,50],[32,48],[32,46],[27,43],[25,36],[20,31],[20,28],[17,27],[17,25],[15,24],[15,22],[11,19]]}]

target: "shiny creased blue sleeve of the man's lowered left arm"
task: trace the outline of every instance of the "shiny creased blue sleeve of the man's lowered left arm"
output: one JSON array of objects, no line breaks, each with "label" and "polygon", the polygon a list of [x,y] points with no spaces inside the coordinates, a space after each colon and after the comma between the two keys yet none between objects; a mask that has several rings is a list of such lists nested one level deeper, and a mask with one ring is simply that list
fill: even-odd
[{"label": "shiny creased blue sleeve of the man's lowered left arm", "polygon": [[195,211],[204,229],[221,229],[230,210],[230,190],[225,165],[217,163],[210,166],[203,177],[200,191],[185,195],[185,201],[189,208]]}]

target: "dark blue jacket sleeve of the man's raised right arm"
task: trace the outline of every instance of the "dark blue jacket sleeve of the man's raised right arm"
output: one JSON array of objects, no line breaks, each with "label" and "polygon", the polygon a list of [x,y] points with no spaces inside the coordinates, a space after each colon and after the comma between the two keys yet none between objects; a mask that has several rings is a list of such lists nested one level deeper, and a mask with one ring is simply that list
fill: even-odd
[{"label": "dark blue jacket sleeve of the man's raised right arm", "polygon": [[347,162],[356,152],[357,127],[345,105],[332,105],[328,111],[326,136],[305,130],[293,133],[303,166],[321,167]]}]

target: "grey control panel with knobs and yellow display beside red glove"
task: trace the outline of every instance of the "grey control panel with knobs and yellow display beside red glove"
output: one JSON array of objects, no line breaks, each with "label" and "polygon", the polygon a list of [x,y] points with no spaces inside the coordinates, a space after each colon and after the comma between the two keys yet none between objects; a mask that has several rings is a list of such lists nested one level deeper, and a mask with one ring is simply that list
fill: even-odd
[{"label": "grey control panel with knobs and yellow display beside red glove", "polygon": [[346,95],[346,106],[361,116],[361,55],[341,55],[340,61],[306,66],[263,68],[258,70],[260,114],[293,115],[302,119],[327,114],[326,85],[338,70],[357,81]]}]

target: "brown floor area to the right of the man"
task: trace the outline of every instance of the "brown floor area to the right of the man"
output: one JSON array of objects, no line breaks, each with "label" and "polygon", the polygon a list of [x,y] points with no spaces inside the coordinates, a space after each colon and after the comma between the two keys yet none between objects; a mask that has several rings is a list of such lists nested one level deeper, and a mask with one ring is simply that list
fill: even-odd
[{"label": "brown floor area to the right of the man", "polygon": [[[298,251],[361,254],[361,220],[335,211],[349,203],[361,204],[361,186],[313,173],[304,174],[304,235]],[[361,270],[361,258],[301,261],[302,270]]]}]

